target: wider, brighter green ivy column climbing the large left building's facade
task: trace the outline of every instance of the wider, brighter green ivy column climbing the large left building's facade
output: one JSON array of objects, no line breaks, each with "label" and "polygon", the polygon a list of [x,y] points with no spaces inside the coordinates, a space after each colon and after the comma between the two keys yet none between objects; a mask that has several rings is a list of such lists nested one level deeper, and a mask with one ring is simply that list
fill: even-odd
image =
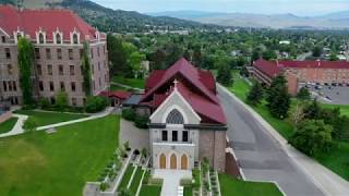
[{"label": "wider, brighter green ivy column climbing the large left building's facade", "polygon": [[34,52],[33,46],[29,40],[21,37],[17,44],[19,54],[19,68],[20,68],[20,86],[22,89],[23,105],[32,106],[33,100],[33,82],[32,77],[32,68],[34,64]]}]

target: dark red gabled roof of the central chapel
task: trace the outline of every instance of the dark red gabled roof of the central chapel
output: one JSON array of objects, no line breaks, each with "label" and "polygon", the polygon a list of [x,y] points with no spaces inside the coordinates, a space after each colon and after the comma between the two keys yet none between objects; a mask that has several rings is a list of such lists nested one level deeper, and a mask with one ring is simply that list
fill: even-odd
[{"label": "dark red gabled roof of the central chapel", "polygon": [[[179,93],[202,118],[202,123],[226,124],[226,118],[216,97],[216,82],[210,72],[195,69],[185,59],[180,59],[167,71],[155,71],[146,81],[146,94],[141,103],[159,107],[173,91],[173,79]],[[180,78],[181,78],[180,77]],[[166,89],[166,90],[164,90]]]}]

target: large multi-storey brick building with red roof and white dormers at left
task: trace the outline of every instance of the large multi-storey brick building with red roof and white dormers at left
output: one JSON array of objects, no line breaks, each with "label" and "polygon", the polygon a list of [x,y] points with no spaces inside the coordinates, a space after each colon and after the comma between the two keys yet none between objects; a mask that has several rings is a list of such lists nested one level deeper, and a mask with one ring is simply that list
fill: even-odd
[{"label": "large multi-storey brick building with red roof and white dormers at left", "polygon": [[32,70],[34,96],[55,103],[59,90],[68,93],[72,106],[82,106],[83,44],[88,42],[92,91],[99,94],[109,85],[106,35],[68,10],[17,10],[0,7],[0,100],[21,105],[17,40],[26,37],[34,45]]}]

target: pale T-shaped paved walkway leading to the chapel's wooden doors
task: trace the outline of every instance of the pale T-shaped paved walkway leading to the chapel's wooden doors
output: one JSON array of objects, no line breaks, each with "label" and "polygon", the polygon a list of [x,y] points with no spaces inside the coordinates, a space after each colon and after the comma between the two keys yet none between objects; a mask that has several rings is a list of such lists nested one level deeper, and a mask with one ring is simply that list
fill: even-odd
[{"label": "pale T-shaped paved walkway leading to the chapel's wooden doors", "polygon": [[155,170],[154,177],[164,179],[161,196],[178,196],[181,179],[192,179],[190,170]]}]

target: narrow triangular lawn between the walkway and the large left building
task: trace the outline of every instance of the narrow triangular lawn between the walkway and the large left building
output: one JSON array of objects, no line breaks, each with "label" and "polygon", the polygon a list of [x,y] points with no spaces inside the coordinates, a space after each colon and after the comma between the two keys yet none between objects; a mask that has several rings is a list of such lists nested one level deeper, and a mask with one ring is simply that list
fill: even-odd
[{"label": "narrow triangular lawn between the walkway and the large left building", "polygon": [[39,126],[86,118],[86,114],[16,110],[14,113],[35,117]]}]

